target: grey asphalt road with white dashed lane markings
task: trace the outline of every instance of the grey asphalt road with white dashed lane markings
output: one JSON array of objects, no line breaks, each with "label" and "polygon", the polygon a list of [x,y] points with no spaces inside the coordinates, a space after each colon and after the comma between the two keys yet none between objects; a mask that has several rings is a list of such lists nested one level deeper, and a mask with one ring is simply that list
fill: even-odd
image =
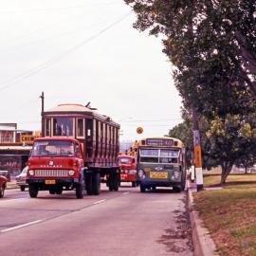
[{"label": "grey asphalt road with white dashed lane markings", "polygon": [[76,199],[6,191],[0,199],[0,248],[5,256],[192,255],[186,193],[140,193],[122,186]]}]

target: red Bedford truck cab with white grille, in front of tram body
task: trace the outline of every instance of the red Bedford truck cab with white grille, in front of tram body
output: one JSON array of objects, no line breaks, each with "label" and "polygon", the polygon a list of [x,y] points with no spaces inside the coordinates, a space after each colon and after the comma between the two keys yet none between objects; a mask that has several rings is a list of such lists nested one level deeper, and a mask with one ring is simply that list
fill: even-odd
[{"label": "red Bedford truck cab with white grille, in front of tram body", "polygon": [[61,194],[63,190],[75,190],[77,198],[83,197],[84,161],[77,139],[36,138],[27,165],[30,197],[37,197],[39,191]]}]

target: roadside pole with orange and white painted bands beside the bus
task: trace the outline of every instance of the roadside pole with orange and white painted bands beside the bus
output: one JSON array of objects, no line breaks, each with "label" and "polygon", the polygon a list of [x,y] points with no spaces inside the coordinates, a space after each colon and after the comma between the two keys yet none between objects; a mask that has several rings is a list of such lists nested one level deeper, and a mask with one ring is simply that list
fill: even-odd
[{"label": "roadside pole with orange and white painted bands beside the bus", "polygon": [[197,113],[192,109],[192,134],[193,134],[193,152],[194,152],[194,167],[197,192],[203,190],[203,169],[202,169],[202,152],[200,143],[200,133],[198,126]]}]

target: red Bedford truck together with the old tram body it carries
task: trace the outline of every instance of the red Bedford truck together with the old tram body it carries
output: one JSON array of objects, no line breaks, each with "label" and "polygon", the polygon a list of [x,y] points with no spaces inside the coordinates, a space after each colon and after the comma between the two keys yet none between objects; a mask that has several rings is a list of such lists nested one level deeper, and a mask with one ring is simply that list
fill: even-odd
[{"label": "red Bedford truck together with the old tram body it carries", "polygon": [[28,160],[30,197],[39,191],[75,190],[100,194],[101,177],[109,191],[119,190],[119,124],[87,104],[61,104],[42,111],[42,137],[34,140]]}]

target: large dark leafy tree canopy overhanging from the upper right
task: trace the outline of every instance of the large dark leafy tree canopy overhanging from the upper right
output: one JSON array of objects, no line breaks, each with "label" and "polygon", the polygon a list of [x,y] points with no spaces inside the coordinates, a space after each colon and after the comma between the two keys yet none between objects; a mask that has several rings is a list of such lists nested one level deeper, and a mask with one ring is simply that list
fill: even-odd
[{"label": "large dark leafy tree canopy overhanging from the upper right", "polygon": [[125,2],[137,13],[137,29],[165,36],[163,51],[176,67],[185,106],[206,114],[237,113],[234,102],[256,97],[256,1]]}]

